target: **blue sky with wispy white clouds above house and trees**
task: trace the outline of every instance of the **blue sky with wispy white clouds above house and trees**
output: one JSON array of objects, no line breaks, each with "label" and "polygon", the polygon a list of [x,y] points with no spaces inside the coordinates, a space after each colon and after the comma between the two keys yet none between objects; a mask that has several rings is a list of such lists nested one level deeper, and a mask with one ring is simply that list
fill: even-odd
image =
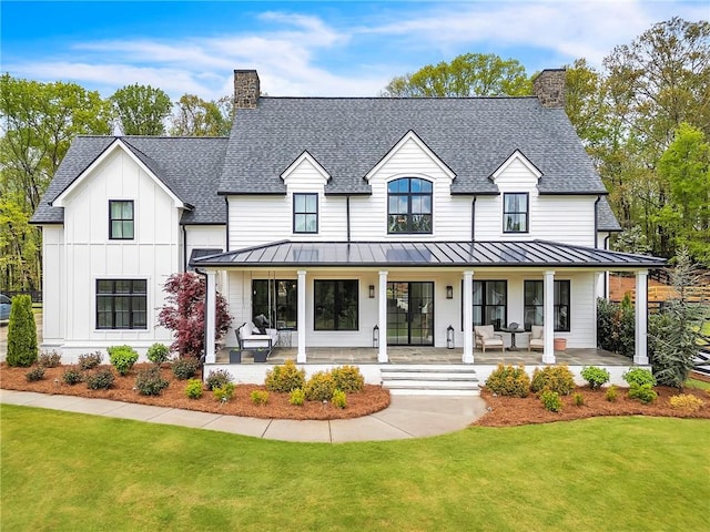
[{"label": "blue sky with wispy white clouds above house and trees", "polygon": [[496,53],[532,73],[615,45],[710,0],[234,2],[1,0],[2,72],[73,81],[103,96],[131,83],[173,99],[232,92],[256,69],[274,96],[377,95],[395,75],[460,53]]}]

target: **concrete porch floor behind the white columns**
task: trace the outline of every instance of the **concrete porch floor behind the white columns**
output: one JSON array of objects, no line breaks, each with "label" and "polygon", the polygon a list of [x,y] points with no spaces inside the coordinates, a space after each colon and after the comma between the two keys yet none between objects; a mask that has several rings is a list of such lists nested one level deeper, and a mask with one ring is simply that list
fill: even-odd
[{"label": "concrete porch floor behind the white columns", "polygon": [[[295,347],[275,347],[267,359],[267,364],[283,364],[286,359],[296,359]],[[446,349],[439,347],[388,347],[387,354],[392,364],[462,364],[463,351],[460,349]],[[306,348],[306,364],[377,364],[377,349],[366,347],[308,347]],[[555,351],[556,364],[568,366],[631,366],[633,360],[621,355],[605,351],[602,349],[566,349]],[[223,348],[216,354],[216,364],[229,364],[229,348]],[[536,366],[542,364],[541,351],[500,352],[488,350],[474,351],[475,365],[523,364]],[[242,364],[254,364],[250,351],[242,352]]]}]

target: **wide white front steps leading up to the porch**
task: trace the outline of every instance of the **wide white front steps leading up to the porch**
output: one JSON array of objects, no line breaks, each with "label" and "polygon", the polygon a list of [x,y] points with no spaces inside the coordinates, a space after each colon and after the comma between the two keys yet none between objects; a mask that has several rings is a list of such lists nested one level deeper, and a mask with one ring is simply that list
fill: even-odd
[{"label": "wide white front steps leading up to the porch", "polygon": [[468,365],[393,365],[382,368],[393,395],[478,396],[478,377]]}]

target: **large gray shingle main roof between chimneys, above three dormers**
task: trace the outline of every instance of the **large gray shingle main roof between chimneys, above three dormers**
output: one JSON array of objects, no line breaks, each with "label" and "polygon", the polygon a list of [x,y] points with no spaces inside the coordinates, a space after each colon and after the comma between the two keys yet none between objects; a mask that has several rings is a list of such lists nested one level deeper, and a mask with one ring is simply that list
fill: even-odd
[{"label": "large gray shingle main roof between chimneys, above three dormers", "polygon": [[261,98],[236,111],[219,191],[283,194],[281,173],[307,150],[326,193],[367,194],[364,176],[409,130],[454,171],[454,194],[496,193],[489,177],[516,150],[541,193],[606,193],[565,111],[537,98]]}]

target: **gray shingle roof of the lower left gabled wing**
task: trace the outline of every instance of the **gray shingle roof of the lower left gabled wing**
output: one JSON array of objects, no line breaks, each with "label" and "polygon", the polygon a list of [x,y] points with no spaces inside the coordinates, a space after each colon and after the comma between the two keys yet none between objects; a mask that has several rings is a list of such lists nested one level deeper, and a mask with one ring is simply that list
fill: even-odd
[{"label": "gray shingle roof of the lower left gabled wing", "polygon": [[50,203],[116,139],[145,164],[168,188],[192,205],[183,224],[224,224],[226,206],[216,194],[227,146],[226,137],[78,136],[72,142],[34,215],[36,224],[61,224],[63,208]]}]

